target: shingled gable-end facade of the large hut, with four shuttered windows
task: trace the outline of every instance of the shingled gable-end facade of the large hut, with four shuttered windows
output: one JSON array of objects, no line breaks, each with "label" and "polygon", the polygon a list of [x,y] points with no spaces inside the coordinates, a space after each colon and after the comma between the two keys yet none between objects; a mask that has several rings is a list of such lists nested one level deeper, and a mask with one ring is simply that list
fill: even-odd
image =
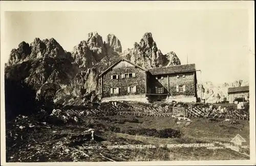
[{"label": "shingled gable-end facade of the large hut, with four shuttered windows", "polygon": [[[146,69],[121,60],[101,75],[102,99],[145,94]],[[112,88],[118,88],[113,92]],[[131,90],[133,88],[134,91]]]}]

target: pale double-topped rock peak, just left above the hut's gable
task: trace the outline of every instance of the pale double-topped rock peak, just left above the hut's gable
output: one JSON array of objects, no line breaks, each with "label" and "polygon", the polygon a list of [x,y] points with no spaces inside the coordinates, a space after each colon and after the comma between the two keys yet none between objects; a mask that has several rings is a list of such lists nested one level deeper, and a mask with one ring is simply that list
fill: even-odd
[{"label": "pale double-topped rock peak, just left above the hut's gable", "polygon": [[88,34],[88,39],[76,45],[72,52],[75,64],[87,69],[99,64],[100,68],[109,65],[122,52],[120,40],[113,34],[106,37],[106,41],[97,32]]}]

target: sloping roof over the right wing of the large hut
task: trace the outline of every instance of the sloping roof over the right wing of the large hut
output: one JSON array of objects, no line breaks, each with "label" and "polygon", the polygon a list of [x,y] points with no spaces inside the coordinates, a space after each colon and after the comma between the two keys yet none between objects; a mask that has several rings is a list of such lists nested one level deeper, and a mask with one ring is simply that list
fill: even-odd
[{"label": "sloping roof over the right wing of the large hut", "polygon": [[148,69],[152,75],[163,75],[163,74],[172,74],[172,73],[184,73],[184,72],[193,72],[196,70],[195,64],[183,64],[176,66],[167,66],[167,67],[157,67]]}]

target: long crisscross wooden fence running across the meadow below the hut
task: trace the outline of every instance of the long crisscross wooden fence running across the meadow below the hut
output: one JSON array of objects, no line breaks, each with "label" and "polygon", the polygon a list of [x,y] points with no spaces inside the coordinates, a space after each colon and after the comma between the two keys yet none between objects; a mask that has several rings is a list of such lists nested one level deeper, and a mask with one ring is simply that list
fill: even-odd
[{"label": "long crisscross wooden fence running across the meadow below the hut", "polygon": [[111,106],[108,108],[96,108],[85,111],[67,110],[67,113],[80,117],[87,116],[112,116],[112,115],[136,115],[136,116],[183,116],[183,117],[216,117],[249,120],[249,114],[243,111],[223,111],[215,108],[200,107],[136,107],[136,106]]}]

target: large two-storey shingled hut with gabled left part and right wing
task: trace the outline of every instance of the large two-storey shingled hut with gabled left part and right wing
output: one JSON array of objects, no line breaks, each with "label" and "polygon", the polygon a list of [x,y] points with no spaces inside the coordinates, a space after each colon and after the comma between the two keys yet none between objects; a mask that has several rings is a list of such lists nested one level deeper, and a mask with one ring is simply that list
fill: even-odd
[{"label": "large two-storey shingled hut with gabled left part and right wing", "polygon": [[197,101],[195,64],[145,69],[120,58],[100,75],[104,101]]}]

